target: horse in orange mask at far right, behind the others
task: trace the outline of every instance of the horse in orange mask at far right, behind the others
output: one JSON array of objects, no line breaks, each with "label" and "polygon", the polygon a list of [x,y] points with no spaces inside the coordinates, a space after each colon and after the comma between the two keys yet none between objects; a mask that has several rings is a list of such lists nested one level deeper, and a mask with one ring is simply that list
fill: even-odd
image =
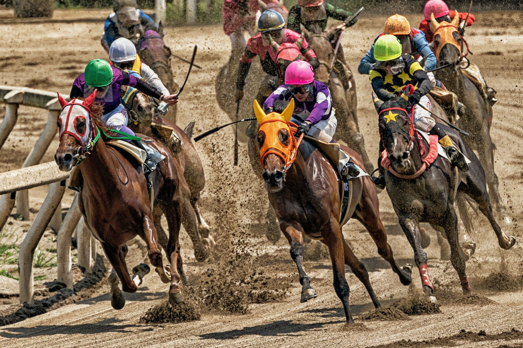
[{"label": "horse in orange mask at far right, behind the others", "polygon": [[[465,141],[479,154],[486,172],[486,181],[494,211],[499,213],[499,217],[505,223],[510,223],[505,205],[499,195],[499,181],[494,171],[495,146],[490,135],[492,118],[489,110],[491,110],[491,105],[485,102],[474,83],[462,73],[460,63],[466,60],[465,57],[469,51],[467,41],[463,39],[457,29],[458,23],[459,17],[454,17],[450,23],[446,21],[438,23],[431,18],[434,28],[434,51],[438,63],[441,66],[450,65],[450,67],[438,70],[437,77],[445,83],[448,90],[456,93],[458,99],[466,106],[465,114],[458,119],[457,124],[470,131],[471,135]],[[467,47],[466,53],[462,53],[463,45]]]}]

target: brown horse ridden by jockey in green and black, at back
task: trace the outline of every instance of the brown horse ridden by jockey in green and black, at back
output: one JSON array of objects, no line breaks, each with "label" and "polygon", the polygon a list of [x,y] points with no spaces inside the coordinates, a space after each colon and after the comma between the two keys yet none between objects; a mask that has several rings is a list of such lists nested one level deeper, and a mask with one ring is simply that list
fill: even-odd
[{"label": "brown horse ridden by jockey in green and black, at back", "polygon": [[[336,109],[336,118],[338,119],[336,134],[339,139],[347,142],[349,148],[355,149],[361,155],[365,169],[372,172],[374,166],[365,150],[365,141],[358,125],[354,75],[350,72],[348,66],[333,64],[335,53],[331,42],[336,42],[342,31],[334,26],[326,32],[323,32],[319,26],[314,26],[311,29],[312,32],[301,26],[302,33],[305,33],[305,39],[309,42],[320,62],[320,66],[314,70],[314,78],[325,83],[332,94],[333,107]],[[342,47],[339,47],[339,49],[343,50]],[[339,68],[343,68],[345,71],[342,73],[338,70]],[[347,77],[345,84],[342,82],[341,76]],[[346,90],[344,85],[349,88]]]}]

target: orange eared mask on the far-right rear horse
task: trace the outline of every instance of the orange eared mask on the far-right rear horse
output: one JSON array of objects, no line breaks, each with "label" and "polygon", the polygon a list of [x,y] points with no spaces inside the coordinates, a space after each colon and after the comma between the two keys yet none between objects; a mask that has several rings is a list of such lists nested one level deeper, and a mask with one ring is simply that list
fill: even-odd
[{"label": "orange eared mask on the far-right rear horse", "polygon": [[[467,43],[467,41],[465,41],[465,39],[463,39],[463,37],[458,31],[458,11],[454,11],[454,18],[452,18],[450,23],[446,21],[438,23],[438,21],[434,17],[434,14],[430,14],[430,23],[434,32],[434,54],[436,55],[438,63],[439,53],[441,52],[441,49],[447,44],[454,46],[458,49],[458,52],[460,52],[460,58],[463,58],[469,54],[469,44]],[[467,53],[465,54],[463,54],[461,50],[462,42],[464,42],[467,46]]]}]

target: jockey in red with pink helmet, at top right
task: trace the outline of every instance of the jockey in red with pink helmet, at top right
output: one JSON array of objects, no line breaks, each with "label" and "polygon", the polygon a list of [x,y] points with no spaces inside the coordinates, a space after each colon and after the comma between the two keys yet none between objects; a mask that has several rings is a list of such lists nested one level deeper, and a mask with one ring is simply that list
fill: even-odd
[{"label": "jockey in red with pink helmet, at top right", "polygon": [[[425,4],[425,9],[423,10],[424,19],[419,23],[419,30],[423,31],[425,33],[425,37],[427,38],[428,42],[434,41],[434,33],[432,31],[432,25],[430,23],[430,14],[434,14],[434,18],[436,18],[436,21],[439,23],[442,21],[451,22],[451,20],[454,18],[454,11],[449,11],[449,7],[443,0],[429,0]],[[467,13],[458,13],[460,25],[458,26],[458,31],[461,35],[465,32],[465,27],[470,27],[474,24],[475,18],[472,14]],[[464,21],[467,20],[465,23]],[[472,67],[471,67],[472,66]],[[488,87],[486,84],[485,79],[479,73],[479,68],[475,65],[470,63],[467,69],[464,69],[465,73],[470,71],[470,74],[467,74],[467,77],[471,77],[475,85],[481,86],[479,88],[482,95],[484,95],[484,98],[486,101],[490,103],[490,105],[494,105],[497,102],[496,99],[496,90],[492,87]],[[477,71],[479,74],[474,74],[474,72]],[[483,90],[484,89],[484,90]]]}]

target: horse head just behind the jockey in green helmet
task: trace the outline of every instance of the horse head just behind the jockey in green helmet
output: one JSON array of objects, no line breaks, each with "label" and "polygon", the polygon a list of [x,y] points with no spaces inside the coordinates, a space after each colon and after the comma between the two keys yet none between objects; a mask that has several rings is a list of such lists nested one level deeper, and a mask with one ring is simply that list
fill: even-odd
[{"label": "horse head just behind the jockey in green helmet", "polygon": [[120,88],[122,103],[126,106],[129,114],[129,121],[134,124],[148,128],[154,118],[154,106],[147,95],[141,93],[136,88],[122,86]]}]

